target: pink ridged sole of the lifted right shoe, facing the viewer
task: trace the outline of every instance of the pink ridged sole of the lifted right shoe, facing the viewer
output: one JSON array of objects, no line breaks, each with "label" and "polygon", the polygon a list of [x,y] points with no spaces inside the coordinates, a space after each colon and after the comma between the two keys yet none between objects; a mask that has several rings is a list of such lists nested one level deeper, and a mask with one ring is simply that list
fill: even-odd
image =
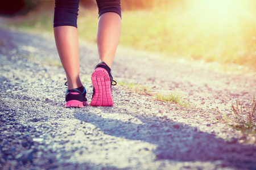
[{"label": "pink ridged sole of the lifted right shoe, facing the viewer", "polygon": [[112,106],[113,98],[108,71],[103,68],[97,68],[93,71],[91,79],[94,87],[94,95],[90,105],[104,107]]}]

